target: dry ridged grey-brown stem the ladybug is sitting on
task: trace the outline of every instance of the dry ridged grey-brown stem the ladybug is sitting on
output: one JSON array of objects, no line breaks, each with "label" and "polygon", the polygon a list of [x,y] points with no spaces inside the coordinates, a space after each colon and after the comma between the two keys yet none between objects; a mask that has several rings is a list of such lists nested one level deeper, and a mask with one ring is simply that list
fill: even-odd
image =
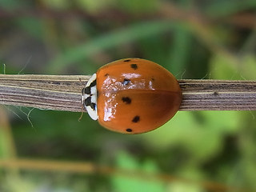
[{"label": "dry ridged grey-brown stem the ladybug is sitting on", "polygon": [[[85,111],[81,91],[88,75],[0,74],[0,104]],[[256,81],[178,80],[180,110],[256,110]]]}]

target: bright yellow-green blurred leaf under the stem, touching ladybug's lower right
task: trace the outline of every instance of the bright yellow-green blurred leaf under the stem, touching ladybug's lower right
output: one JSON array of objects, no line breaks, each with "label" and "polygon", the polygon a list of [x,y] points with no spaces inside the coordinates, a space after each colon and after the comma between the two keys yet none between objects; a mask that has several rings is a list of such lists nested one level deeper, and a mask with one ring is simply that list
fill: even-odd
[{"label": "bright yellow-green blurred leaf under the stem, touching ladybug's lower right", "polygon": [[142,139],[152,150],[182,146],[194,161],[201,162],[221,150],[223,136],[238,131],[238,115],[237,111],[178,112],[162,127],[143,134]]}]

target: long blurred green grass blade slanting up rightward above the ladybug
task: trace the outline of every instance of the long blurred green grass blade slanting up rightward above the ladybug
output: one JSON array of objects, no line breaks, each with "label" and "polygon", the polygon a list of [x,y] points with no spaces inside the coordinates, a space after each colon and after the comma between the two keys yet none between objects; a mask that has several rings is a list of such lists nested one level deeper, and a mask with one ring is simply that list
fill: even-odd
[{"label": "long blurred green grass blade slanting up rightward above the ladybug", "polygon": [[102,36],[94,38],[90,42],[85,42],[82,46],[71,48],[66,53],[58,55],[57,58],[50,62],[47,70],[57,73],[59,69],[89,58],[98,51],[114,46],[122,46],[124,43],[134,42],[139,38],[149,38],[152,35],[170,30],[172,26],[174,26],[174,23],[169,21],[143,22],[121,30],[114,30],[108,34],[102,34]]}]

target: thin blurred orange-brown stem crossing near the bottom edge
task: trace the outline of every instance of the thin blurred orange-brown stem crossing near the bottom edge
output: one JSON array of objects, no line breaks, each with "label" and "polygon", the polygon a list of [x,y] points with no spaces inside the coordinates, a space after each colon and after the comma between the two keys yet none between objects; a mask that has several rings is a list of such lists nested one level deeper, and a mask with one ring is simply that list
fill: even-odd
[{"label": "thin blurred orange-brown stem crossing near the bottom edge", "polygon": [[51,161],[51,160],[34,160],[34,159],[0,159],[0,167],[6,169],[17,166],[21,170],[42,170],[52,172],[67,172],[74,174],[106,174],[106,175],[119,175],[126,178],[141,178],[151,180],[152,182],[159,180],[162,182],[185,182],[187,184],[196,184],[203,186],[209,191],[250,191],[245,189],[236,188],[234,186],[226,186],[218,182],[208,181],[192,181],[186,178],[178,178],[170,174],[154,174],[140,170],[123,170],[118,167],[99,166],[92,162],[64,162],[64,161]]}]

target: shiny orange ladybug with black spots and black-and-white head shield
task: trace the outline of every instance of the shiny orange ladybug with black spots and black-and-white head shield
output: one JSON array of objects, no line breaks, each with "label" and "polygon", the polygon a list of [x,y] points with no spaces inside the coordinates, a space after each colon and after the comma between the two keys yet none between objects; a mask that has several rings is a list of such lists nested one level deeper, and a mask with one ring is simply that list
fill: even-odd
[{"label": "shiny orange ladybug with black spots and black-and-white head shield", "polygon": [[122,134],[141,134],[176,114],[182,90],[174,75],[155,62],[126,58],[110,62],[82,89],[90,117]]}]

